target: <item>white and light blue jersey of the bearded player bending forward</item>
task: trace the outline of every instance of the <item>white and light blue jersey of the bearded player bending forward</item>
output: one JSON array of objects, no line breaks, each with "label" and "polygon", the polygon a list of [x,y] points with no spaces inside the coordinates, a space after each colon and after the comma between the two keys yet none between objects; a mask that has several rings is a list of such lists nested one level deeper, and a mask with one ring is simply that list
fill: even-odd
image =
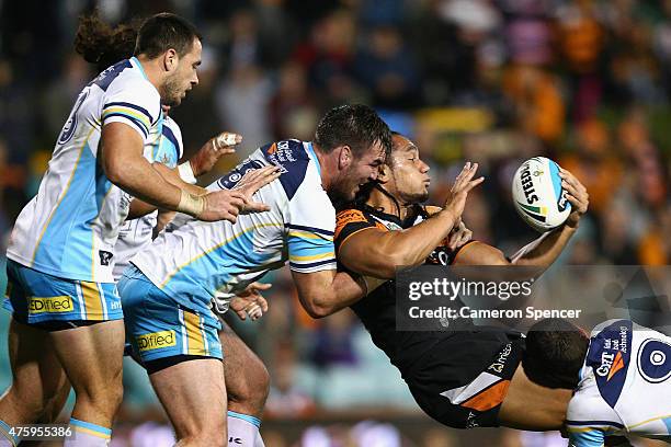
[{"label": "white and light blue jersey of the bearded player bending forward", "polygon": [[334,270],[336,211],[311,144],[264,146],[209,188],[231,188],[249,170],[269,164],[282,174],[253,197],[269,211],[239,216],[235,225],[189,220],[161,233],[133,264],[182,306],[207,311],[214,300],[219,312],[235,293],[287,261],[295,272]]}]

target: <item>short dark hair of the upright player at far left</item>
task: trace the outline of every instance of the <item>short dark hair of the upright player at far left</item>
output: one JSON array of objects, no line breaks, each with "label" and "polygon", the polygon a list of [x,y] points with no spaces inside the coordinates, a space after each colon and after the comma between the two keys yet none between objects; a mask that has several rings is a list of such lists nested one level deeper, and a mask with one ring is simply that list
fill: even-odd
[{"label": "short dark hair of the upright player at far left", "polygon": [[137,34],[135,55],[153,59],[170,48],[182,57],[191,51],[193,41],[203,39],[193,24],[170,12],[155,14],[143,22]]}]

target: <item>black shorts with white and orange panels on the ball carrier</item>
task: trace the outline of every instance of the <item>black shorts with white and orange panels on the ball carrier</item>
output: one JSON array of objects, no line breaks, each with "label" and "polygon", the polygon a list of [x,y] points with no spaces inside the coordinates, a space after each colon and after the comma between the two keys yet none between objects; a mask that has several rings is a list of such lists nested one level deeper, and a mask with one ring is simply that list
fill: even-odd
[{"label": "black shorts with white and orange panels on the ball carrier", "polygon": [[420,408],[437,422],[454,428],[496,427],[523,352],[520,334],[455,332],[403,377]]}]

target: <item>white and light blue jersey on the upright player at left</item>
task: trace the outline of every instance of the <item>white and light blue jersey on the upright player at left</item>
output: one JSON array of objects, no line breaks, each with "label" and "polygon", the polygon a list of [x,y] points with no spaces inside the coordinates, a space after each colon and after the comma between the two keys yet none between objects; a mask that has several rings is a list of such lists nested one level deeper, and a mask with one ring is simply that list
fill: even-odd
[{"label": "white and light blue jersey on the upright player at left", "polygon": [[60,278],[114,282],[114,244],[130,196],[98,161],[110,123],[126,124],[145,145],[160,136],[160,95],[136,58],[107,68],[79,94],[39,191],[16,219],[9,259]]}]

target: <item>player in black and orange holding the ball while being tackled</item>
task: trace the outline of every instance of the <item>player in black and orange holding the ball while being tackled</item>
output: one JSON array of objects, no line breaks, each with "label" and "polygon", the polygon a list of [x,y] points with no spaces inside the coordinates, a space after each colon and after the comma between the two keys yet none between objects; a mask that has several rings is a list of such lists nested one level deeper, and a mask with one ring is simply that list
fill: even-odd
[{"label": "player in black and orange holding the ball while being tackled", "polygon": [[[340,265],[379,278],[394,278],[399,265],[548,267],[587,210],[584,187],[561,171],[573,213],[561,228],[544,234],[509,260],[488,244],[464,242],[463,227],[455,233],[443,224],[446,216],[464,206],[464,182],[469,181],[477,165],[466,164],[443,209],[423,206],[429,197],[429,167],[412,141],[395,134],[391,156],[380,168],[377,181],[338,214],[334,241]],[[304,305],[314,317],[326,317],[343,307],[338,302],[330,308]],[[397,332],[394,282],[350,307],[371,333],[373,343],[400,370],[418,404],[439,422],[457,428],[561,427],[571,394],[526,378],[519,366],[524,349],[521,334],[476,326],[464,331]]]}]

